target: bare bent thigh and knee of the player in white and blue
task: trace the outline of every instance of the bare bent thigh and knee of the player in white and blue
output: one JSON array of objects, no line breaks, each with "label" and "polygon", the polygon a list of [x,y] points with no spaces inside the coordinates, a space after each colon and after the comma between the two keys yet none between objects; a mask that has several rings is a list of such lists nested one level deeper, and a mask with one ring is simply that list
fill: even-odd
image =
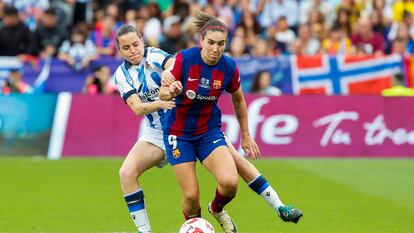
[{"label": "bare bent thigh and knee of the player in white and blue", "polygon": [[164,151],[161,148],[149,142],[138,141],[129,151],[122,169],[142,173],[159,164],[163,159]]}]

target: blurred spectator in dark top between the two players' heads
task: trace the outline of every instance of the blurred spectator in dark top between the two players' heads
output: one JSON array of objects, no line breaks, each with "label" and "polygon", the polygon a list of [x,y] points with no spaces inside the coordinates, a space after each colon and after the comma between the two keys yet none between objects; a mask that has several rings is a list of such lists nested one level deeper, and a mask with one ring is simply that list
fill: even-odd
[{"label": "blurred spectator in dark top between the two players' heads", "polygon": [[180,17],[173,15],[164,20],[164,38],[160,42],[160,49],[169,54],[175,54],[186,47],[186,37],[181,32]]}]

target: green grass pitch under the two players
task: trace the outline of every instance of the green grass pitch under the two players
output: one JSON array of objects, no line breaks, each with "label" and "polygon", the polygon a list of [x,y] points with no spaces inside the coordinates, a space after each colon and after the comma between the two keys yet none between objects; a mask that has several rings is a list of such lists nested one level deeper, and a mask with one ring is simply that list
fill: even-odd
[{"label": "green grass pitch under the two players", "polygon": [[[0,157],[0,232],[135,232],[118,181],[122,159]],[[414,232],[413,159],[275,159],[254,164],[285,204],[304,212],[282,222],[240,182],[227,207],[240,233]],[[203,217],[215,182],[198,167]],[[181,193],[168,166],[142,177],[154,233],[178,232]]]}]

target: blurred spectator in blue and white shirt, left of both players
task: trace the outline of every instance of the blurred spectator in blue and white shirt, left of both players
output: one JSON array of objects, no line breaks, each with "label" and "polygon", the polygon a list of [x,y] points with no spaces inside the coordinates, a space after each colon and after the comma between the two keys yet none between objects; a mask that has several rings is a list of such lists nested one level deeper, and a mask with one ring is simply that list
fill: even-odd
[{"label": "blurred spectator in blue and white shirt, left of both players", "polygon": [[72,30],[70,39],[63,42],[58,54],[60,60],[65,61],[77,71],[88,67],[90,62],[97,57],[95,45],[78,27]]}]

